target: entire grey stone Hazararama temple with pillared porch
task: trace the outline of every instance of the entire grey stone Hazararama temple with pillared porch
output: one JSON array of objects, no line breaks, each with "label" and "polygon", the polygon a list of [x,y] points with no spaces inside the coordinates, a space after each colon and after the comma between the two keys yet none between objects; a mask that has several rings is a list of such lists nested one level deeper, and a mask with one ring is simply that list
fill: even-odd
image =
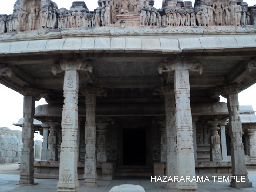
[{"label": "entire grey stone Hazararama temple with pillared porch", "polygon": [[[17,0],[0,15],[0,83],[24,95],[19,184],[59,178],[61,192],[77,191],[78,179],[96,187],[123,175],[232,174],[246,181],[232,187],[251,187],[256,121],[237,94],[256,83],[256,5],[98,5]],[[41,97],[48,105],[35,108]],[[36,164],[33,118],[45,136]],[[194,181],[163,185],[197,190]]]}]

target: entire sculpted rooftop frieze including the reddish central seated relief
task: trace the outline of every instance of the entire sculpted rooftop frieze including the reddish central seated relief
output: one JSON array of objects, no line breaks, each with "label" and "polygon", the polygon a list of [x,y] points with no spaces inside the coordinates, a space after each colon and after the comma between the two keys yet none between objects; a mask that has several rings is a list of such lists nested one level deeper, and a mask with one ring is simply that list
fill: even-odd
[{"label": "entire sculpted rooftop frieze including the reddish central seated relief", "polygon": [[[87,28],[125,26],[230,26],[250,25],[248,4],[234,0],[165,0],[162,9],[149,0],[99,0],[99,7],[89,11],[85,2],[73,2],[70,10],[51,0],[17,0],[11,15],[0,15],[0,34],[41,28]],[[249,11],[248,11],[249,10]],[[255,20],[255,19],[254,19]],[[124,29],[125,27],[121,27]]]}]

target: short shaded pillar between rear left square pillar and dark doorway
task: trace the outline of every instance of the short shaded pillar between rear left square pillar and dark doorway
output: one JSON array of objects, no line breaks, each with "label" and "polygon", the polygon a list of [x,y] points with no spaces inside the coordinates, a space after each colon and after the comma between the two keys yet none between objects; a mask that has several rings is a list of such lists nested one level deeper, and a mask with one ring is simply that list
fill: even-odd
[{"label": "short shaded pillar between rear left square pillar and dark doorway", "polygon": [[97,152],[97,162],[107,162],[106,153],[106,132],[109,123],[97,123],[97,132],[99,133],[97,138],[98,152]]}]

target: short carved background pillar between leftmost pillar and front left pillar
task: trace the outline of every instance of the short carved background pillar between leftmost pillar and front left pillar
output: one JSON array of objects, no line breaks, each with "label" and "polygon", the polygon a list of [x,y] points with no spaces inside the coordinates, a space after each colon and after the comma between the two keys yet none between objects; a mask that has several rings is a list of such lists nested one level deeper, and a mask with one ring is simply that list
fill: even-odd
[{"label": "short carved background pillar between leftmost pillar and front left pillar", "polygon": [[58,136],[57,130],[59,123],[58,122],[49,122],[50,134],[48,136],[48,150],[47,150],[47,160],[58,161]]}]

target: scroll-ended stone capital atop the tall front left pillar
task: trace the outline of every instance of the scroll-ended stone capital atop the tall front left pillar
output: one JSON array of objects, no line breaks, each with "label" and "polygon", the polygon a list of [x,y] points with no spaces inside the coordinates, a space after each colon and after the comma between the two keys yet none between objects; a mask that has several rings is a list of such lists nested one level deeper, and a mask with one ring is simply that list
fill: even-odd
[{"label": "scroll-ended stone capital atop the tall front left pillar", "polygon": [[53,64],[52,73],[54,75],[66,70],[89,71],[92,73],[93,66],[87,59],[61,59]]}]

